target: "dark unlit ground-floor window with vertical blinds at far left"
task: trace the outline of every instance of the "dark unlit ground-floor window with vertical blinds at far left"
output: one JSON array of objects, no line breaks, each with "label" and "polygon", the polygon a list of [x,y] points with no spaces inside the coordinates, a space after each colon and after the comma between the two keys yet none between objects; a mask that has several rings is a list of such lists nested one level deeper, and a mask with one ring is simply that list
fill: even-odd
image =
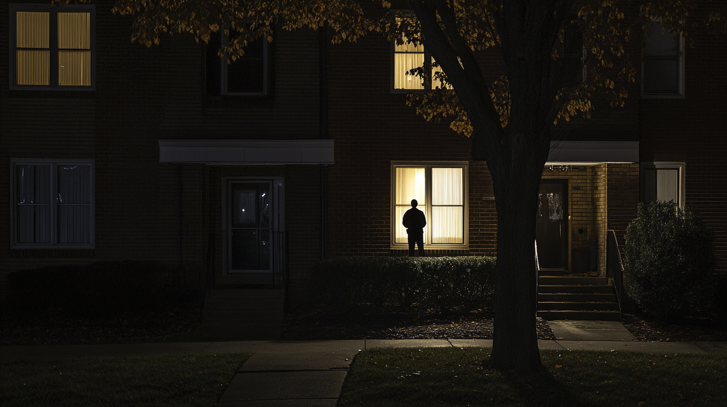
[{"label": "dark unlit ground-floor window with vertical blinds at far left", "polygon": [[13,246],[92,247],[93,162],[13,160]]}]

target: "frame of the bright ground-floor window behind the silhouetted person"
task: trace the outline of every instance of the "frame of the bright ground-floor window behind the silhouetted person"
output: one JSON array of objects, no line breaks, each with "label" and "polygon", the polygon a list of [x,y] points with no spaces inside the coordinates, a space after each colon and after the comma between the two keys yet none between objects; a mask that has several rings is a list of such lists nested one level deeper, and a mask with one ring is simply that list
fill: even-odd
[{"label": "frame of the bright ground-floor window behind the silhouetted person", "polygon": [[[409,249],[409,243],[396,243],[396,226],[401,224],[401,219],[396,219],[396,169],[397,168],[424,168],[425,169],[425,195],[427,196],[424,210],[427,218],[425,228],[425,242],[432,241],[432,169],[433,168],[461,168],[462,169],[462,243],[425,243],[424,248],[430,250],[438,249],[467,249],[469,248],[469,182],[467,172],[469,163],[467,161],[391,161],[391,233],[390,249]],[[420,210],[422,208],[419,208]]]}]

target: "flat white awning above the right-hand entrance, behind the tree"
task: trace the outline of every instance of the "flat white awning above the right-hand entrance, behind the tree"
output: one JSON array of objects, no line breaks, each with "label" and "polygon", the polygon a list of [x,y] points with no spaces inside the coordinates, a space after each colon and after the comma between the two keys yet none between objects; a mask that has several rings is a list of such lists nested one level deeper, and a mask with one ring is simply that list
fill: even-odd
[{"label": "flat white awning above the right-hand entrance, behind the tree", "polygon": [[638,141],[552,141],[547,161],[635,163],[638,162]]}]

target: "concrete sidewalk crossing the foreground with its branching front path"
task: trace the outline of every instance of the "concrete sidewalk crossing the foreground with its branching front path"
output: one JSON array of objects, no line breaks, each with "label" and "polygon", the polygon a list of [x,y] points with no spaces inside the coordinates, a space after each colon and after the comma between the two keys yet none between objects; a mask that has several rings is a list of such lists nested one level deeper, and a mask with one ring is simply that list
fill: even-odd
[{"label": "concrete sidewalk crossing the foreground with its branching front path", "polygon": [[[541,349],[727,353],[727,342],[626,340],[538,341]],[[220,407],[335,406],[348,366],[360,350],[374,347],[491,347],[489,339],[352,339],[324,341],[180,342],[155,344],[41,345],[0,347],[0,360],[102,355],[254,352],[220,398]]]}]

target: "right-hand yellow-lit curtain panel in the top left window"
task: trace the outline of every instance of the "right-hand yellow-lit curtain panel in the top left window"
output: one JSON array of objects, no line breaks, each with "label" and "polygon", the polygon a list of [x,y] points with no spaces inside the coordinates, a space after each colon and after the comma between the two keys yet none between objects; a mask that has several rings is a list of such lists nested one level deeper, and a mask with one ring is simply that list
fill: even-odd
[{"label": "right-hand yellow-lit curtain panel in the top left window", "polygon": [[91,13],[58,13],[58,84],[91,85]]}]

